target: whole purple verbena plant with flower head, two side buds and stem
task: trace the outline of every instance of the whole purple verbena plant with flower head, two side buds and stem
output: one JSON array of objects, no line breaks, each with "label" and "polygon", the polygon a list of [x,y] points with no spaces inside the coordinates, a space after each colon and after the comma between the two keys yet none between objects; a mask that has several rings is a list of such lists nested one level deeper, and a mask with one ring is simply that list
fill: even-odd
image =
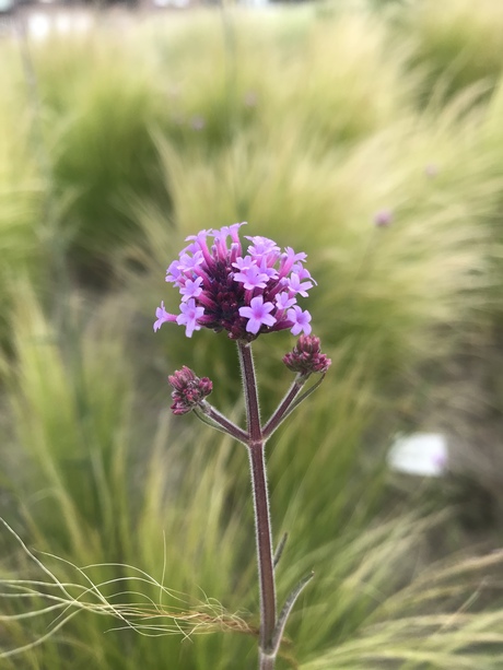
[{"label": "whole purple verbena plant with flower head, two side buds and stem", "polygon": [[[168,377],[174,388],[171,409],[174,414],[194,411],[200,421],[248,449],[259,566],[259,666],[272,670],[289,615],[313,573],[301,579],[277,613],[274,565],[281,550],[273,560],[266,443],[321,384],[331,361],[321,353],[319,339],[311,334],[311,314],[297,305],[299,297],[307,297],[316,284],[304,267],[306,255],[296,254],[291,247],[281,250],[276,242],[262,236],[245,236],[247,242],[242,244],[239,228],[243,225],[235,223],[187,237],[189,244],[166,272],[166,282],[176,286],[180,294],[179,314],[169,314],[161,303],[155,312],[154,331],[165,322],[174,322],[185,326],[188,338],[195,330],[210,328],[224,330],[236,341],[246,427],[227,419],[206,400],[213,388],[211,380],[197,377],[186,366]],[[252,341],[259,334],[285,329],[300,336],[294,349],[283,357],[286,367],[297,374],[269,420],[262,423]],[[321,373],[321,376],[303,391],[313,373]]]}]

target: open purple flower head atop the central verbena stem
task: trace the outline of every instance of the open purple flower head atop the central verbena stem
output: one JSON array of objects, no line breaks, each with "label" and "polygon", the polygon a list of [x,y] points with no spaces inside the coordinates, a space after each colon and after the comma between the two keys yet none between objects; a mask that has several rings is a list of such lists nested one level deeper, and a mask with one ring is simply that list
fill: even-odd
[{"label": "open purple flower head atop the central verbena stem", "polygon": [[[166,282],[182,295],[178,315],[157,307],[154,330],[164,322],[195,330],[226,330],[234,340],[250,342],[259,334],[290,329],[311,333],[311,315],[296,304],[316,283],[304,268],[306,255],[291,247],[281,251],[267,237],[245,237],[243,249],[235,223],[187,237],[190,244],[167,269]],[[212,239],[209,244],[209,238]]]}]

